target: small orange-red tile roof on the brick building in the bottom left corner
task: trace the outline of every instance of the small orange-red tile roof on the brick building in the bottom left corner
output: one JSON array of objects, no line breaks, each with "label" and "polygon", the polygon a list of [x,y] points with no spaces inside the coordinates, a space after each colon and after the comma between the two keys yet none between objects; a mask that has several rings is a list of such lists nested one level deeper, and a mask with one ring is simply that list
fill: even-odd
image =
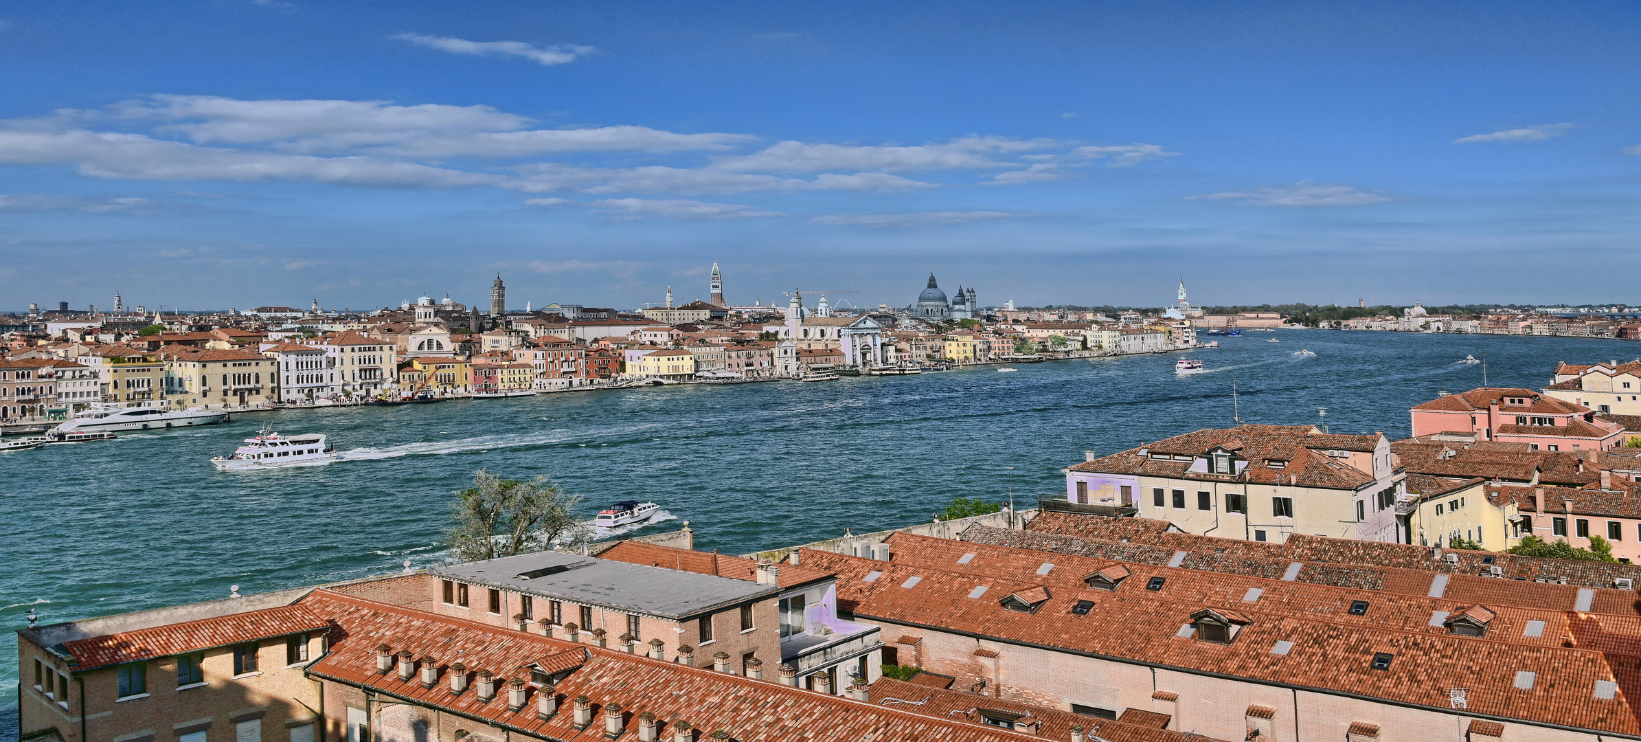
[{"label": "small orange-red tile roof on the brick building in the bottom left corner", "polygon": [[184,624],[156,625],[64,642],[74,670],[95,670],[126,662],[185,655],[215,647],[328,629],[330,624],[304,606],[281,606]]}]

